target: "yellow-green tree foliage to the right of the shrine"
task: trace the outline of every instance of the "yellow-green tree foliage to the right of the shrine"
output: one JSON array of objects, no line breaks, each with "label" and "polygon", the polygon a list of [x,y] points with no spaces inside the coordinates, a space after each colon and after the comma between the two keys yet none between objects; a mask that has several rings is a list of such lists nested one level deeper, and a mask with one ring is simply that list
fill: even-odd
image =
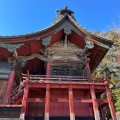
[{"label": "yellow-green tree foliage to the right of the shrine", "polygon": [[95,32],[94,34],[114,41],[113,46],[93,73],[93,77],[103,77],[107,74],[110,83],[114,86],[111,93],[116,112],[118,112],[120,111],[120,64],[118,64],[118,58],[120,58],[120,31],[111,30],[105,33]]}]

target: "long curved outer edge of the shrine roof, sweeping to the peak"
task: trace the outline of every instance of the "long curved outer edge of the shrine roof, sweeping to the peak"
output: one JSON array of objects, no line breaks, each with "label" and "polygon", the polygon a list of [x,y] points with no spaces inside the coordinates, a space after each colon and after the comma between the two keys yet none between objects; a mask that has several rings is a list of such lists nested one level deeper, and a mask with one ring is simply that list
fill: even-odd
[{"label": "long curved outer edge of the shrine roof, sweeping to the peak", "polygon": [[[65,20],[66,17],[68,18],[68,20],[81,32],[83,32],[84,34],[86,34],[88,37],[93,38],[95,40],[97,40],[98,42],[104,43],[106,45],[111,46],[113,44],[113,41],[93,35],[92,33],[88,32],[86,29],[82,28],[75,20],[72,19],[72,17],[68,14],[64,15],[64,17],[62,17],[58,22],[56,22],[55,24],[52,24],[51,26],[42,29],[40,31],[34,32],[34,33],[30,33],[30,34],[25,34],[25,35],[16,35],[16,36],[0,36],[0,42],[9,42],[10,40],[22,40],[22,39],[26,39],[26,38],[30,38],[30,37],[37,37],[37,36],[48,36],[50,31],[55,30],[55,28],[57,28],[58,26],[60,26]],[[48,33],[48,34],[46,34]],[[22,42],[22,41],[21,41]]]}]

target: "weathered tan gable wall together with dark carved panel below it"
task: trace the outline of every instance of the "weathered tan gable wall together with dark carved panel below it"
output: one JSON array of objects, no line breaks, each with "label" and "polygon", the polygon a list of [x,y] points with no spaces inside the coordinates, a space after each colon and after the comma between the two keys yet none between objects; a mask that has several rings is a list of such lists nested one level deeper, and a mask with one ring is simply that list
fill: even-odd
[{"label": "weathered tan gable wall together with dark carved panel below it", "polygon": [[[51,75],[82,76],[85,75],[86,54],[68,39],[61,39],[46,49],[51,61]],[[57,64],[54,64],[57,63]]]}]

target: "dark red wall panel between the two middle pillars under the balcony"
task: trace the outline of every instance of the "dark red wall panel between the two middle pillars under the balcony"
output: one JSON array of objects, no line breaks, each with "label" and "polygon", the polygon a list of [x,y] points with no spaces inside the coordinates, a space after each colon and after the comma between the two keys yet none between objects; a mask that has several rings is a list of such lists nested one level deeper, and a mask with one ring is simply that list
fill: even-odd
[{"label": "dark red wall panel between the two middle pillars under the balcony", "polygon": [[50,116],[69,116],[69,101],[66,103],[58,102],[59,99],[69,99],[68,89],[50,90]]}]

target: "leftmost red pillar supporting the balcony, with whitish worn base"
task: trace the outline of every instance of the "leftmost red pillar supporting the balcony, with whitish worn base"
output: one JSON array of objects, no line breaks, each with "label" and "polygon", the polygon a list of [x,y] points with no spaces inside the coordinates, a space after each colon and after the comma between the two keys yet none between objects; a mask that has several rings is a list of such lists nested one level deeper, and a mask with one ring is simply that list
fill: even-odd
[{"label": "leftmost red pillar supporting the balcony, with whitish worn base", "polygon": [[21,113],[20,113],[20,119],[23,119],[23,120],[25,119],[26,112],[27,112],[27,101],[26,101],[26,99],[28,98],[28,94],[29,94],[29,87],[28,87],[28,84],[26,84],[25,88],[24,88],[22,108],[21,108]]}]

